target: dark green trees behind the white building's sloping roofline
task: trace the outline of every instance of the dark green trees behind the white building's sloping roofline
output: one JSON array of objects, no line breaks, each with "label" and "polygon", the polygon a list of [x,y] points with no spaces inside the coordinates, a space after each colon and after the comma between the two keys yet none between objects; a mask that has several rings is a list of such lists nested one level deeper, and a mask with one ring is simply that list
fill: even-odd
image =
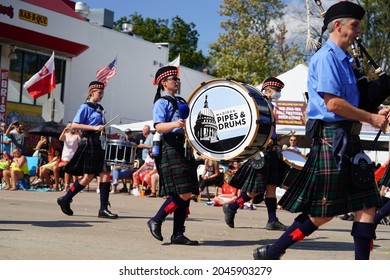
[{"label": "dark green trees behind the white building's sloping roofline", "polygon": [[180,54],[181,65],[195,70],[207,66],[207,58],[203,56],[202,51],[197,51],[199,33],[195,30],[194,23],[187,24],[176,16],[169,25],[168,19],[144,19],[135,13],[114,22],[114,29],[121,30],[123,23],[132,24],[133,33],[147,41],[169,43],[169,61]]}]

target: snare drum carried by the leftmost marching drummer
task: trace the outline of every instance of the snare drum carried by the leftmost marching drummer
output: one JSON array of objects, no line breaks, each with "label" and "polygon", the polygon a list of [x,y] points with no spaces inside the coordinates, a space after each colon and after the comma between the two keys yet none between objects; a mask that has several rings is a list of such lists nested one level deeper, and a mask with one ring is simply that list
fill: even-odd
[{"label": "snare drum carried by the leftmost marching drummer", "polygon": [[123,140],[108,140],[104,159],[108,165],[133,165],[137,145]]}]

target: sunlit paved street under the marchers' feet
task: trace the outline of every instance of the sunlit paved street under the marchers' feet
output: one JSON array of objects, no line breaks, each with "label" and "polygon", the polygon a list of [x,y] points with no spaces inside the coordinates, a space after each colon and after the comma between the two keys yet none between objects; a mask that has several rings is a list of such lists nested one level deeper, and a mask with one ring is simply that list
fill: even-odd
[{"label": "sunlit paved street under the marchers' feet", "polygon": [[[0,191],[1,260],[251,260],[252,250],[269,244],[281,232],[264,229],[266,209],[240,210],[236,228],[225,225],[221,207],[191,202],[186,235],[200,246],[170,245],[172,217],[163,224],[164,242],[151,237],[147,220],[162,198],[111,195],[117,220],[97,218],[99,195],[91,190],[72,203],[74,216],[64,215],[56,203],[62,192]],[[280,210],[290,225],[295,214]],[[352,222],[334,219],[312,236],[295,244],[283,260],[352,260]],[[379,225],[373,260],[390,259],[390,227]]]}]

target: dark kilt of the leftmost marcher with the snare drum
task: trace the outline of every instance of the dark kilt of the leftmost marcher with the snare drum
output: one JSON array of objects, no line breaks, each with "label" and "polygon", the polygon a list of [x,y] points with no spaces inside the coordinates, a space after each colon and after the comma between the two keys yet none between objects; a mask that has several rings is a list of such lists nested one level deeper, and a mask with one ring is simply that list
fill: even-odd
[{"label": "dark kilt of the leftmost marcher with the snare drum", "polygon": [[98,176],[105,167],[104,150],[98,137],[83,138],[67,165],[65,172],[75,176],[94,174]]}]

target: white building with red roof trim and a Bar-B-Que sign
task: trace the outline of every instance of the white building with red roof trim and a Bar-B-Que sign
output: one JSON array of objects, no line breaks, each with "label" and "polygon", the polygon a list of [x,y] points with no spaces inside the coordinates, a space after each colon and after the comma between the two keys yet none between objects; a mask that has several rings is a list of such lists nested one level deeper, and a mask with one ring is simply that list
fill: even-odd
[{"label": "white building with red roof trim and a Bar-B-Que sign", "polygon": [[[87,16],[91,20],[87,20],[84,16],[88,13],[83,13],[83,8],[88,6],[80,4],[70,0],[1,1],[2,119],[8,122],[19,119],[30,127],[42,121],[42,105],[49,95],[34,100],[22,84],[40,70],[53,51],[57,76],[53,96],[64,104],[62,122],[73,119],[85,101],[88,84],[95,80],[96,71],[115,57],[117,72],[109,81],[102,101],[106,119],[120,114],[114,121],[119,124],[152,117],[156,93],[152,81],[157,69],[168,64],[169,45],[145,41],[128,31],[112,30],[113,12],[103,8],[91,9]],[[180,94],[184,98],[203,81],[212,79],[183,66],[180,77]]]}]

